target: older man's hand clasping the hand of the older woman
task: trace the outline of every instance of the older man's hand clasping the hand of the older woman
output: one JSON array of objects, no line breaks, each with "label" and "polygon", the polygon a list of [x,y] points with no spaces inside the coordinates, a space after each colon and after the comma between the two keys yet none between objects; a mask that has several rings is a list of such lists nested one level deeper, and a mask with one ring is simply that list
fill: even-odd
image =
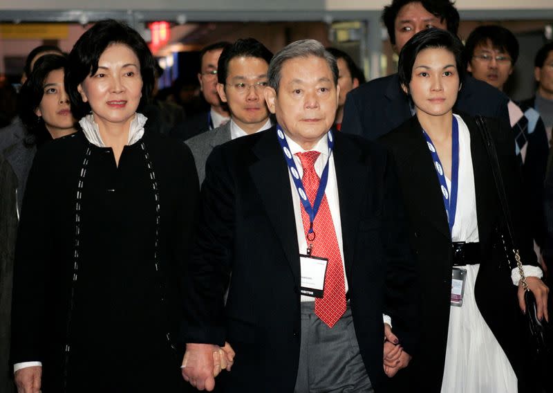
[{"label": "older man's hand clasping the hand of the older woman", "polygon": [[[214,390],[215,376],[221,372],[221,362],[216,367],[214,360],[220,360],[220,349],[218,345],[213,344],[187,344],[185,357],[182,358],[180,367],[182,378],[185,378],[185,381],[198,390],[207,390],[208,392]],[[216,372],[216,368],[218,372]]]}]

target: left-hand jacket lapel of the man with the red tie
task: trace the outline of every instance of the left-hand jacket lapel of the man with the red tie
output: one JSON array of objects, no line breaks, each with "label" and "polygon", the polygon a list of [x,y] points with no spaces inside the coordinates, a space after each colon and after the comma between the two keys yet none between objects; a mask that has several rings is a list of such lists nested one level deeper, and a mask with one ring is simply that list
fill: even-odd
[{"label": "left-hand jacket lapel of the man with the red tie", "polygon": [[299,287],[299,248],[290,194],[290,178],[275,127],[263,132],[253,150],[259,161],[250,167],[252,180],[261,196],[274,232],[282,244],[294,281]]}]

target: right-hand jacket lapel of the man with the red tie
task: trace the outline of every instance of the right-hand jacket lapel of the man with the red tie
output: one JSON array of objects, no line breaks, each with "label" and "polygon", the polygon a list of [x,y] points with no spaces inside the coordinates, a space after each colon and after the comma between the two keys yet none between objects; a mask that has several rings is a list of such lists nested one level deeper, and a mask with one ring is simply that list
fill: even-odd
[{"label": "right-hand jacket lapel of the man with the red tie", "polygon": [[334,166],[338,188],[341,237],[344,244],[344,264],[346,276],[350,276],[353,258],[355,257],[355,241],[359,229],[359,210],[366,196],[367,165],[361,161],[361,151],[344,138],[339,132],[334,133],[335,148]]}]

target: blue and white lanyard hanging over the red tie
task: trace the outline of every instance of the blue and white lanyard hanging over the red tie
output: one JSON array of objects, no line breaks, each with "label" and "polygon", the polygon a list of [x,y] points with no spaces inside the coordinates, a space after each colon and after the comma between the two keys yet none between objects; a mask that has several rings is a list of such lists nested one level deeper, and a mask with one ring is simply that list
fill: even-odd
[{"label": "blue and white lanyard hanging over the red tie", "polygon": [[326,183],[328,183],[328,162],[330,161],[330,154],[332,154],[332,148],[334,147],[332,131],[328,130],[328,134],[327,134],[328,160],[326,161],[326,165],[324,166],[323,173],[321,174],[319,189],[317,190],[317,196],[315,197],[315,201],[313,202],[312,206],[307,197],[306,190],[305,188],[303,188],[303,183],[299,178],[299,172],[297,170],[296,163],[294,162],[294,158],[292,157],[292,152],[290,152],[290,147],[288,146],[288,142],[286,141],[284,132],[282,131],[282,128],[280,125],[277,125],[277,136],[279,137],[278,138],[279,143],[281,144],[286,163],[288,163],[288,169],[292,174],[294,185],[296,185],[296,190],[299,194],[299,200],[301,201],[303,208],[306,210],[306,213],[309,216],[310,226],[308,230],[308,240],[313,241],[315,240],[315,232],[313,231],[313,221],[315,221],[315,216],[317,215],[317,212],[321,207],[321,202],[323,201],[323,197],[324,197],[324,191],[326,189]]}]

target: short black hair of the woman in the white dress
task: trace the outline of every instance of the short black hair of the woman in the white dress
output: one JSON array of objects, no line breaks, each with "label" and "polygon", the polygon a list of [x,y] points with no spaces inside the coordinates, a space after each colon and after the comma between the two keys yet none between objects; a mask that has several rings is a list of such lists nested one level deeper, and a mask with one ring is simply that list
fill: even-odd
[{"label": "short black hair of the woman in the white dress", "polygon": [[415,64],[418,54],[429,48],[443,48],[453,53],[459,83],[462,83],[465,78],[465,68],[462,64],[462,43],[460,39],[447,30],[429,28],[413,35],[402,48],[400,60],[397,64],[397,76],[400,79],[400,84],[409,89],[409,83],[413,75],[413,64]]}]

